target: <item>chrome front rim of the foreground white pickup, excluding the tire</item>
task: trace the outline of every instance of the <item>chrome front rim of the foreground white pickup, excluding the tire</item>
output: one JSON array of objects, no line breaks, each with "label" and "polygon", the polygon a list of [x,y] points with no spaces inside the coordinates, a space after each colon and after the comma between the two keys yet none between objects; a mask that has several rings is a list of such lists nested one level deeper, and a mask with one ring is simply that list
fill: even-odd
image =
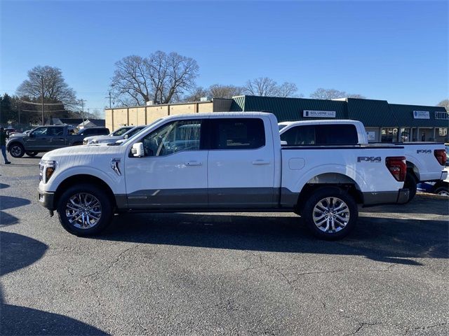
[{"label": "chrome front rim of the foreground white pickup, excluding the tire", "polygon": [[75,228],[93,228],[100,221],[101,215],[100,201],[89,193],[76,193],[65,206],[65,216]]}]

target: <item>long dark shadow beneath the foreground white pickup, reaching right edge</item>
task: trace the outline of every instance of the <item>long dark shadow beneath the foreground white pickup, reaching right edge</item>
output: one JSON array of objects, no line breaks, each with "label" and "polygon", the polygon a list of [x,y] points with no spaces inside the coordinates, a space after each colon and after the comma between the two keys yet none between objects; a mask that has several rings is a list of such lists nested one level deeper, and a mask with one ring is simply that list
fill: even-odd
[{"label": "long dark shadow beneath the foreground white pickup, reaching right edge", "polygon": [[99,239],[142,244],[249,251],[363,255],[371,260],[422,265],[413,258],[448,258],[444,221],[359,218],[340,241],[311,236],[298,216],[239,214],[123,214]]}]

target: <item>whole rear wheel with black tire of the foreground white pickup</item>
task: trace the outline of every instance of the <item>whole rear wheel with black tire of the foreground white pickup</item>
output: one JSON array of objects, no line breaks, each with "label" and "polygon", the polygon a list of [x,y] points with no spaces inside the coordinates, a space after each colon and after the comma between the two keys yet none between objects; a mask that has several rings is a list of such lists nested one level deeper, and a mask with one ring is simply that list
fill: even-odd
[{"label": "whole rear wheel with black tire of the foreground white pickup", "polygon": [[[326,198],[330,198],[332,204],[328,204]],[[328,207],[323,207],[323,204],[328,204]],[[338,208],[340,206],[342,206],[340,210],[335,209],[335,207]],[[323,209],[323,211],[321,211],[321,209]],[[327,213],[324,210],[330,210],[330,212]],[[342,216],[339,216],[337,214],[332,214],[332,211],[335,211],[336,213],[338,213],[338,211],[344,211],[344,213],[341,213],[340,215]],[[302,218],[304,218],[304,223],[306,223],[314,236],[319,239],[336,240],[346,237],[349,232],[354,230],[358,218],[358,208],[354,198],[346,191],[337,187],[322,187],[311,193],[309,199],[305,202],[304,207],[302,208],[301,214]],[[323,218],[314,216],[321,214],[323,215]],[[344,221],[340,218],[343,218]],[[326,222],[321,224],[320,221],[322,220]],[[315,224],[315,221],[318,223]],[[323,227],[322,225],[326,225],[326,227]]]}]

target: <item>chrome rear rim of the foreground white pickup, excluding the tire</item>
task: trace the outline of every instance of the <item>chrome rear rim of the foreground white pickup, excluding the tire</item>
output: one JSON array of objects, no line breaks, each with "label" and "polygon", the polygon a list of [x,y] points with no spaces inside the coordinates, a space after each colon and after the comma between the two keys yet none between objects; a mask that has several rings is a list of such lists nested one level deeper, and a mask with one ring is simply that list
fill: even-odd
[{"label": "chrome rear rim of the foreground white pickup, excluding the tire", "polygon": [[316,228],[323,232],[335,233],[349,223],[349,207],[337,197],[326,197],[316,203],[312,215]]}]

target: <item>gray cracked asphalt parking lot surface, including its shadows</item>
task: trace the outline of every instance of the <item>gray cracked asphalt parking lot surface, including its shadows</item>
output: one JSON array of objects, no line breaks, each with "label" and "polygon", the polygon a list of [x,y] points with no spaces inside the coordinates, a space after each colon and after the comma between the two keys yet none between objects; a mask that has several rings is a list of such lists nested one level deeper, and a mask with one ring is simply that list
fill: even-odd
[{"label": "gray cracked asphalt parking lot surface, including its shadows", "polygon": [[295,214],[124,214],[79,238],[0,165],[1,335],[449,335],[448,200],[360,209],[342,241]]}]

